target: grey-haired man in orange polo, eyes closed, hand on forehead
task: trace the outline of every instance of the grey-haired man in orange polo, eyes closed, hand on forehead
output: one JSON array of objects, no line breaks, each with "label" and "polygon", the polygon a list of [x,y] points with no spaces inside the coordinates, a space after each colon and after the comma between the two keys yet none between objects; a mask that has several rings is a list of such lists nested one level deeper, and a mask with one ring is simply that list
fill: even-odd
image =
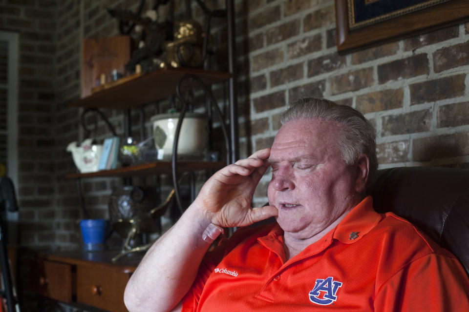
[{"label": "grey-haired man in orange polo, eyes closed, hand on forehead", "polygon": [[[281,121],[271,149],[215,173],[150,248],[128,282],[129,311],[469,311],[457,259],[373,211],[375,137],[362,114],[304,98]],[[251,208],[269,166],[270,206]],[[206,254],[219,227],[270,216]]]}]

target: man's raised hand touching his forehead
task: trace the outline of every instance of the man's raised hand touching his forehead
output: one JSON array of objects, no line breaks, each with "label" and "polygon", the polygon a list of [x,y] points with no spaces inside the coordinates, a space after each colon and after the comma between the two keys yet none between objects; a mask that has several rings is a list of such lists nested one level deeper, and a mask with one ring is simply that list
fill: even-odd
[{"label": "man's raised hand touching his forehead", "polygon": [[270,148],[217,171],[202,187],[193,204],[221,227],[247,226],[277,215],[277,208],[252,208],[251,201],[269,164]]}]

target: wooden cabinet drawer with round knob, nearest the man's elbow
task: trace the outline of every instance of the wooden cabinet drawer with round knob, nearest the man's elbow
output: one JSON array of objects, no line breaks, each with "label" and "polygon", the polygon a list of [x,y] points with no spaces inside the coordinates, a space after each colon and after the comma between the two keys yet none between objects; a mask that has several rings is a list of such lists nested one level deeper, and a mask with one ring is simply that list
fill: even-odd
[{"label": "wooden cabinet drawer with round knob, nearest the man's elbow", "polygon": [[77,266],[77,301],[112,312],[127,312],[124,290],[128,273]]}]

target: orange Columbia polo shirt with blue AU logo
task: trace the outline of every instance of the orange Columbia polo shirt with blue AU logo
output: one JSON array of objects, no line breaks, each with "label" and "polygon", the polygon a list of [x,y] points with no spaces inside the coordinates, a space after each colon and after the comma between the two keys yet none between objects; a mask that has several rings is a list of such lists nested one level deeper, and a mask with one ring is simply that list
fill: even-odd
[{"label": "orange Columbia polo shirt with blue AU logo", "polygon": [[239,229],[202,262],[183,312],[469,311],[454,255],[366,197],[289,260],[278,224]]}]

